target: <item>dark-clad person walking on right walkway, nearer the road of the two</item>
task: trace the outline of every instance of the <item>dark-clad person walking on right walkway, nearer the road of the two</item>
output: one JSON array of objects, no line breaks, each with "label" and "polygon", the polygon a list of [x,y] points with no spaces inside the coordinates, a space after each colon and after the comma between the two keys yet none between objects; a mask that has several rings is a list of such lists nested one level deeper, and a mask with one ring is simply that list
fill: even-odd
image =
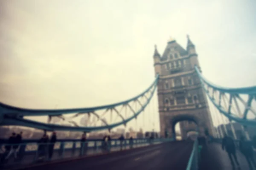
[{"label": "dark-clad person walking on right walkway, nearer the road of the two", "polygon": [[233,139],[230,136],[227,136],[226,134],[225,134],[224,138],[222,139],[222,149],[226,150],[232,166],[234,166],[234,161],[232,159],[232,155],[236,161],[236,164],[239,166],[239,162],[237,161],[237,157],[236,157],[236,145],[235,145]]}]

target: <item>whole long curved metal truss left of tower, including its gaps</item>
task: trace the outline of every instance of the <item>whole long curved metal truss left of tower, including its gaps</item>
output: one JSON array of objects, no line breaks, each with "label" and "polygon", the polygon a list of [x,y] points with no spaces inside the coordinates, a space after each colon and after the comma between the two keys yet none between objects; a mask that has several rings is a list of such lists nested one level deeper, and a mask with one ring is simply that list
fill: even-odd
[{"label": "whole long curved metal truss left of tower, including its gaps", "polygon": [[[144,111],[155,92],[158,79],[159,76],[157,75],[150,87],[134,98],[93,108],[38,110],[17,108],[0,103],[0,125],[19,125],[47,131],[69,130],[90,132],[94,130],[111,130],[113,127],[126,125]],[[84,115],[87,116],[86,125],[81,125],[77,120],[81,119],[81,116]],[[48,121],[47,123],[37,122],[26,119],[27,116],[47,116]],[[52,123],[52,118],[54,117],[61,120],[58,122],[58,125]]]}]

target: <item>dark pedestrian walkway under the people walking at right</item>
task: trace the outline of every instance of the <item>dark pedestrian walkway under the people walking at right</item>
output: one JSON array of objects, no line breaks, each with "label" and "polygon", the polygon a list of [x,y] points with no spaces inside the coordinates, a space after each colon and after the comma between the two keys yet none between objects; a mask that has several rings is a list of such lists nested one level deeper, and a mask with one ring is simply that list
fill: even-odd
[{"label": "dark pedestrian walkway under the people walking at right", "polygon": [[201,150],[199,170],[250,170],[246,159],[239,150],[237,150],[237,159],[240,167],[232,167],[226,151],[221,148],[221,144],[208,144]]}]

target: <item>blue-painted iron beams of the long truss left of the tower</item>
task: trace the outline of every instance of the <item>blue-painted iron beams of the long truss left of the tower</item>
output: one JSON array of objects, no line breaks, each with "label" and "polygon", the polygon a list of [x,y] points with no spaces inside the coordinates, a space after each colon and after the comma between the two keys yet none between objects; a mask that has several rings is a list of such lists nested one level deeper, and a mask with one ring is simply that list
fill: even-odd
[{"label": "blue-painted iron beams of the long truss left of the tower", "polygon": [[[47,131],[52,130],[69,130],[69,131],[84,131],[84,132],[90,132],[93,130],[104,130],[104,129],[112,129],[113,127],[119,126],[119,125],[126,125],[129,121],[132,119],[137,118],[137,116],[145,109],[145,107],[150,102],[154,91],[157,87],[157,82],[159,79],[159,75],[157,75],[154,82],[150,85],[149,88],[147,88],[143,93],[140,95],[137,95],[131,99],[125,100],[123,102],[118,102],[111,105],[104,105],[104,106],[98,106],[93,108],[77,108],[77,109],[58,109],[58,110],[38,110],[38,109],[25,109],[25,108],[17,108],[13,106],[9,106],[3,103],[0,103],[0,115],[3,116],[2,122],[0,122],[0,125],[20,125],[20,126],[26,126],[26,127],[34,127],[38,129],[44,129]],[[147,97],[146,94],[150,93],[150,95]],[[141,104],[139,98],[145,97],[146,102],[144,105]],[[131,105],[129,105],[129,102],[138,102],[141,106],[141,108],[138,111],[134,111],[134,109],[131,108]],[[124,119],[124,117],[116,111],[117,106],[123,106],[128,107],[133,113],[133,116],[128,117],[127,119]],[[76,117],[79,114],[93,114],[97,116],[98,119],[100,117],[95,113],[96,111],[103,110],[106,111],[111,110],[115,111],[119,117],[122,118],[122,121],[112,123],[108,125],[106,122],[103,126],[97,126],[97,127],[79,127],[78,125],[73,122],[75,127],[72,126],[63,126],[63,125],[54,125],[54,124],[47,124],[42,122],[36,122],[28,119],[24,119],[24,116],[42,116],[42,115],[48,115],[48,116],[61,116],[63,114],[68,113],[76,113],[74,117]],[[103,121],[103,120],[102,120]],[[70,123],[72,121],[69,121]]]}]

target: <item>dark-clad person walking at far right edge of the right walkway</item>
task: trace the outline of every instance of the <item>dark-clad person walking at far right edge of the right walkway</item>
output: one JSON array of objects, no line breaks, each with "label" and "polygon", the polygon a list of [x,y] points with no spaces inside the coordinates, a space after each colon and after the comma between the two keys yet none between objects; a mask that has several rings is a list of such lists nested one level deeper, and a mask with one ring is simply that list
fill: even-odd
[{"label": "dark-clad person walking at far right edge of the right walkway", "polygon": [[244,155],[245,159],[247,160],[249,167],[253,168],[251,163],[253,163],[253,166],[256,167],[256,162],[253,157],[252,143],[250,141],[245,141],[244,136],[241,136],[240,138],[239,149],[241,153]]}]

